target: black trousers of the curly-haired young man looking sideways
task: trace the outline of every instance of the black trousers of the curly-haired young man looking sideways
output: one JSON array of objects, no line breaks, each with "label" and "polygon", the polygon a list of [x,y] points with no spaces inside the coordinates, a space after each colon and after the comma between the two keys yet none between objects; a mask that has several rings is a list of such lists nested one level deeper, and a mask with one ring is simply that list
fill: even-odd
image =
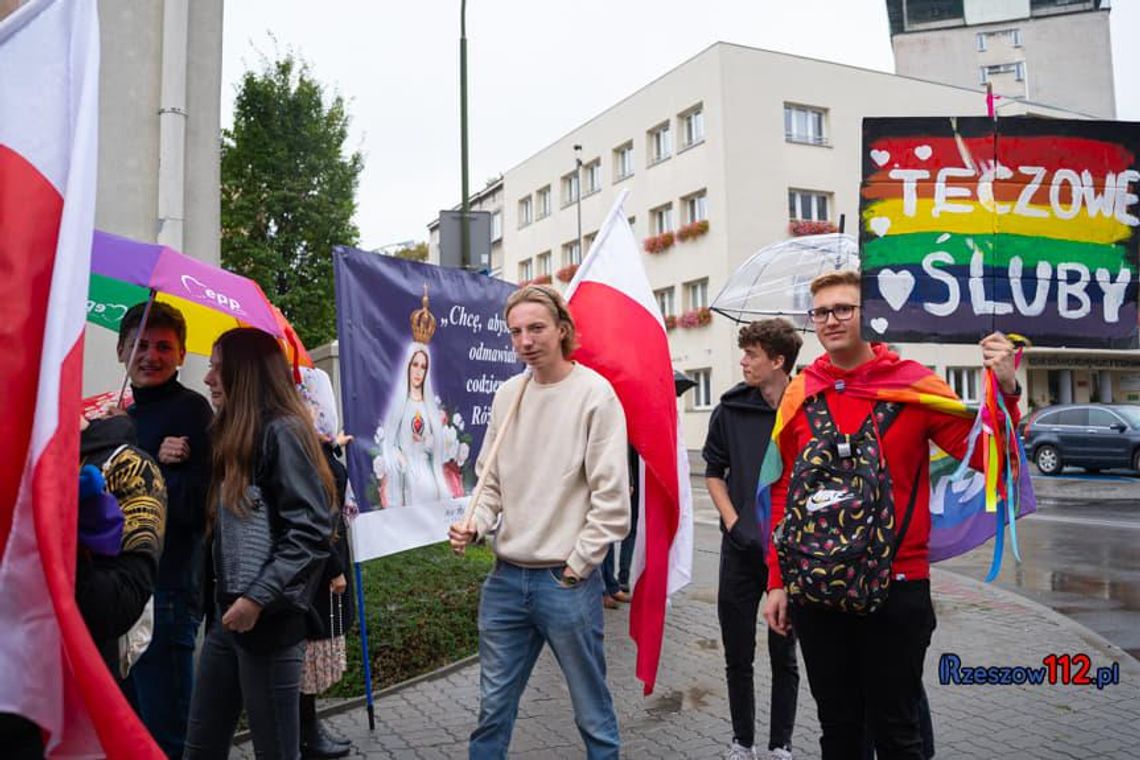
[{"label": "black trousers of the curly-haired young man looking sideways", "polygon": [[[756,618],[760,597],[768,586],[768,570],[759,547],[741,548],[728,534],[720,539],[720,582],[717,616],[724,641],[725,675],[733,739],[743,746],[756,741],[756,689],[752,661],[756,659]],[[799,667],[796,638],[768,630],[768,661],[772,665],[772,711],[768,749],[791,749],[796,727]]]}]

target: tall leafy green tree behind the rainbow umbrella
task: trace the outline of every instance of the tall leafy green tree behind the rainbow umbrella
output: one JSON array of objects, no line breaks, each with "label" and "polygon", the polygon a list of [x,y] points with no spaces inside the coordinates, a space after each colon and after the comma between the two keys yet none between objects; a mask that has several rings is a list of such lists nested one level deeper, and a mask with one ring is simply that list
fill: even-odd
[{"label": "tall leafy green tree behind the rainbow umbrella", "polygon": [[333,246],[356,245],[364,167],[349,115],[293,55],[246,72],[221,134],[221,261],[256,280],[307,346],[336,336]]}]

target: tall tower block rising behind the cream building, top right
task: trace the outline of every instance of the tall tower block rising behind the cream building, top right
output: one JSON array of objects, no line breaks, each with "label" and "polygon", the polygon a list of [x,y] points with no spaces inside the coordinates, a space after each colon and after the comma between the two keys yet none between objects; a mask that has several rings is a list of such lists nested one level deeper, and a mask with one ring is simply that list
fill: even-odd
[{"label": "tall tower block rising behind the cream building, top right", "polygon": [[1116,115],[1108,0],[887,0],[887,14],[899,74]]}]

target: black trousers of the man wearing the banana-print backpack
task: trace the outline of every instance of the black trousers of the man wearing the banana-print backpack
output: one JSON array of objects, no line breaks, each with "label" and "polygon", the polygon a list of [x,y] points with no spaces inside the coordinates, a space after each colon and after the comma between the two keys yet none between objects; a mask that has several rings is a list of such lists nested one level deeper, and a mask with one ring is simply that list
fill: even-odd
[{"label": "black trousers of the man wearing the banana-print backpack", "polygon": [[823,760],[860,760],[864,733],[880,760],[922,760],[922,661],[935,629],[930,581],[895,581],[860,616],[789,605],[819,708]]}]

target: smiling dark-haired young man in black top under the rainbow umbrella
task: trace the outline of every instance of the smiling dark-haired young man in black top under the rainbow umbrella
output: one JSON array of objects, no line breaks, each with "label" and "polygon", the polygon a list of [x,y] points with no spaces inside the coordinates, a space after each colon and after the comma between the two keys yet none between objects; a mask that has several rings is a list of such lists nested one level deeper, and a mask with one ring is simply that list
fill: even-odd
[{"label": "smiling dark-haired young man in black top under the rainbow umbrella", "polygon": [[[154,637],[135,665],[127,692],[158,746],[182,757],[194,679],[194,643],[202,624],[206,490],[213,410],[178,382],[186,359],[186,320],[173,307],[132,307],[119,326],[119,360],[127,366],[135,403],[129,409],[138,446],[158,461],[166,482],[166,538],[154,594]],[[141,325],[141,334],[139,327]],[[135,340],[138,349],[131,358]]]}]

